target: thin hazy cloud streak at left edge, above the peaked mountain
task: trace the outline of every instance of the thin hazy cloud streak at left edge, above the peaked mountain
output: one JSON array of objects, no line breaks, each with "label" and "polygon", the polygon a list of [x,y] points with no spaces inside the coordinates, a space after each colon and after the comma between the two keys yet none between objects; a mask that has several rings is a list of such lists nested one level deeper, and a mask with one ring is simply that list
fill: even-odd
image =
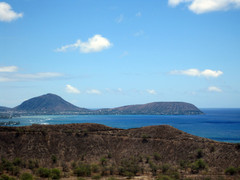
[{"label": "thin hazy cloud streak at left edge, above the peaked mountain", "polygon": [[63,74],[55,72],[43,72],[35,74],[11,74],[11,75],[5,74],[2,75],[2,77],[0,77],[0,82],[45,80],[62,76]]}]

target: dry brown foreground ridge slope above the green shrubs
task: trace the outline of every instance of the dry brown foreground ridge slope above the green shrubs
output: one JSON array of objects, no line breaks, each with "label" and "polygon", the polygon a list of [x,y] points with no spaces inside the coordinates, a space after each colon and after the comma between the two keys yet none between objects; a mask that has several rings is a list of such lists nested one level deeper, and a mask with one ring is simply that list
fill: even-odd
[{"label": "dry brown foreground ridge slope above the green shrubs", "polygon": [[[157,167],[166,164],[183,174],[215,175],[240,166],[239,145],[196,137],[168,125],[128,130],[100,124],[0,127],[0,154],[45,167],[53,166],[54,156],[56,166],[63,169],[82,162],[113,167],[115,174],[120,174],[124,160],[141,168],[137,174],[163,172]],[[204,166],[197,165],[199,161]]]}]

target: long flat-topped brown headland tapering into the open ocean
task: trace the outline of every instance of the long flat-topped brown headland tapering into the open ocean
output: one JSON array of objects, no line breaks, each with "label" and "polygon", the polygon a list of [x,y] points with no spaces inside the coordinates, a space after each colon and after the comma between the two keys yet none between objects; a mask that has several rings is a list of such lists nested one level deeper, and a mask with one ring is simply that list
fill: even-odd
[{"label": "long flat-topped brown headland tapering into the open ocean", "polygon": [[152,114],[152,115],[196,115],[203,114],[196,106],[185,102],[153,102],[111,109],[100,109],[96,114]]}]

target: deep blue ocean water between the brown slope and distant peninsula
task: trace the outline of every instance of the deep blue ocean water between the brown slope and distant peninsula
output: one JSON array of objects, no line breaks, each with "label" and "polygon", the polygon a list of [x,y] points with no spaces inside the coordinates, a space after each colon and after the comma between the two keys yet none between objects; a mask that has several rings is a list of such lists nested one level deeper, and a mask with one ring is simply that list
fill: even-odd
[{"label": "deep blue ocean water between the brown slope and distant peninsula", "polygon": [[[216,141],[240,142],[240,109],[201,109],[205,115],[48,115],[13,118],[31,124],[99,123],[129,129],[168,124],[187,133]],[[0,120],[0,122],[6,120]]]}]

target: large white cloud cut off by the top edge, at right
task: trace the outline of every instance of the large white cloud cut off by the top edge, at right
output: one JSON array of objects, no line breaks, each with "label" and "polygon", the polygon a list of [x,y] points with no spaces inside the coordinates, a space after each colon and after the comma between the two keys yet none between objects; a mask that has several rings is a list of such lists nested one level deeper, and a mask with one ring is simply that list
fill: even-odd
[{"label": "large white cloud cut off by the top edge, at right", "polygon": [[196,14],[240,8],[240,0],[168,0],[168,3],[173,7],[187,3],[188,9]]}]

